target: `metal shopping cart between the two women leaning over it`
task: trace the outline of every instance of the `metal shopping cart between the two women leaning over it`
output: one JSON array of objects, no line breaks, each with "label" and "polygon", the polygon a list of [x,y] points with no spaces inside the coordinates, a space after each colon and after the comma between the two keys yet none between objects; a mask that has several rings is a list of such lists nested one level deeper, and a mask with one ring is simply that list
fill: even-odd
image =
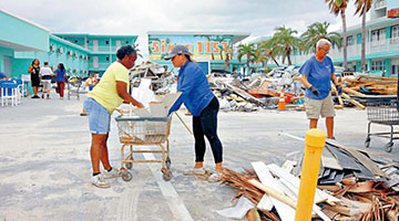
[{"label": "metal shopping cart between the two women leaning over it", "polygon": [[[124,181],[130,181],[133,176],[127,169],[133,168],[135,162],[162,162],[163,179],[168,181],[172,178],[168,135],[171,130],[172,116],[170,117],[124,117],[115,118],[117,123],[119,137],[122,144],[121,172]],[[158,146],[160,149],[140,149],[134,146]],[[165,148],[166,146],[166,148]],[[124,149],[130,147],[130,152],[125,156]],[[133,154],[154,152],[162,154],[160,160],[135,160]],[[126,166],[127,169],[124,168]]]}]

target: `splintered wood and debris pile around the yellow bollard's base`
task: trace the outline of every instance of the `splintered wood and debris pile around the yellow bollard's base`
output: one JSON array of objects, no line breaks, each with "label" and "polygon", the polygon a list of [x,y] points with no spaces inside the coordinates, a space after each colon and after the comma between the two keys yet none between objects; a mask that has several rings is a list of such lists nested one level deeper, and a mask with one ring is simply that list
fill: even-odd
[{"label": "splintered wood and debris pile around the yellow bollard's base", "polygon": [[[329,154],[324,155],[321,160],[320,176],[327,170],[329,175],[324,177],[325,181],[327,180],[324,185],[320,183],[323,178],[318,180],[314,220],[397,221],[398,162],[382,165],[381,161],[386,160],[381,160],[380,164],[376,164],[356,148],[339,148],[332,145],[330,147]],[[330,150],[332,147],[338,151],[342,151],[344,148],[347,151],[338,154]],[[342,155],[346,157],[342,158]],[[337,159],[336,156],[339,156],[339,160],[331,159]],[[378,158],[383,159],[381,156]],[[274,164],[266,166],[264,162],[252,165],[254,169],[244,169],[244,172],[224,169],[221,177],[223,185],[236,190],[234,199],[245,198],[248,200],[246,204],[252,204],[245,207],[249,210],[246,211],[247,219],[294,220],[300,183],[299,177],[290,172],[295,168],[287,167],[287,164],[283,168]]]}]

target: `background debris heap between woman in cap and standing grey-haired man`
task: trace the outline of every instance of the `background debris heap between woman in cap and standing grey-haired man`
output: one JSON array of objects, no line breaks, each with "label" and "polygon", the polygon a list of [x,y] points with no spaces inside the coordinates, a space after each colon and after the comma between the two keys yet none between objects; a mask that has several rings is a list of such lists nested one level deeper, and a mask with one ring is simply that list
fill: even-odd
[{"label": "background debris heap between woman in cap and standing grey-haired man", "polygon": [[215,95],[223,102],[221,105],[223,110],[275,109],[280,96],[284,97],[287,108],[298,108],[298,105],[304,104],[305,87],[298,74],[289,72],[279,75],[254,74],[244,81],[233,77],[211,77],[209,83]]}]

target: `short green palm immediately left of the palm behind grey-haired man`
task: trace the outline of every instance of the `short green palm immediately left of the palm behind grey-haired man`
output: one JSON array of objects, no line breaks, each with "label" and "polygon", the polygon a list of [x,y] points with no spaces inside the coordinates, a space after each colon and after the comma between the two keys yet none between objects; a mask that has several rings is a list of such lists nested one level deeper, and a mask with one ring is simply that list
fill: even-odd
[{"label": "short green palm immediately left of the palm behind grey-haired man", "polygon": [[298,38],[293,34],[298,33],[296,30],[291,30],[290,28],[277,27],[276,33],[272,38],[272,43],[276,45],[276,51],[282,53],[283,63],[287,59],[288,65],[291,65],[290,53],[298,45]]}]

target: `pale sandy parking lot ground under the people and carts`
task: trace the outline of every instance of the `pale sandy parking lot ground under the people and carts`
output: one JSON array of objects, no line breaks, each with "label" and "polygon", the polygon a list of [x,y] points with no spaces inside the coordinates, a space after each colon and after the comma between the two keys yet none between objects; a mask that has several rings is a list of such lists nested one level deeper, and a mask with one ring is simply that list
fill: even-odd
[{"label": "pale sandy parking lot ground under the people and carts", "polygon": [[[90,185],[91,137],[86,117],[79,116],[83,101],[52,97],[24,98],[18,107],[0,107],[1,221],[228,220],[215,211],[233,206],[234,190],[183,175],[194,164],[193,137],[176,117],[170,136],[170,182],[162,180],[160,165],[137,164],[130,182],[115,178],[110,180],[111,188],[99,189]],[[191,125],[191,117],[184,119]],[[304,148],[303,141],[285,134],[304,137],[308,125],[303,112],[276,110],[221,113],[218,123],[224,165],[235,170],[250,168],[252,161],[259,160],[282,165],[287,155]],[[324,122],[319,127],[325,129]],[[366,112],[337,112],[336,137],[341,144],[362,147],[366,128]],[[382,151],[387,141],[374,138],[370,148]],[[117,168],[120,147],[116,123],[112,120],[109,150]],[[390,155],[399,157],[399,145]],[[209,147],[205,165],[214,167]]]}]

